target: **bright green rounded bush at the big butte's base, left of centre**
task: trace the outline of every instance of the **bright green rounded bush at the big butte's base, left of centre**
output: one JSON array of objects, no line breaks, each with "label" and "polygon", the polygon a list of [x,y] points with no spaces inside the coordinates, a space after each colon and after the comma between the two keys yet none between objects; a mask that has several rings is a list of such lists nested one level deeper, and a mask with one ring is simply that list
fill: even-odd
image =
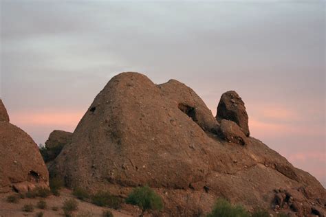
[{"label": "bright green rounded bush at the big butte's base, left of centre", "polygon": [[162,210],[163,201],[150,187],[136,187],[126,199],[126,203],[138,205],[142,209]]}]

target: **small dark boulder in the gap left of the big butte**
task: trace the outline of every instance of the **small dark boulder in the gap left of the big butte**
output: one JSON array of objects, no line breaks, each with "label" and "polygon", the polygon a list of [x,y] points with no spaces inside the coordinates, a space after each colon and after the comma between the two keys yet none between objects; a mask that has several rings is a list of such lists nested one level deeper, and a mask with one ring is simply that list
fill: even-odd
[{"label": "small dark boulder in the gap left of the big butte", "polygon": [[47,158],[45,163],[52,161],[58,156],[63,146],[72,141],[72,133],[63,130],[54,130],[50,133],[49,139],[45,141]]}]

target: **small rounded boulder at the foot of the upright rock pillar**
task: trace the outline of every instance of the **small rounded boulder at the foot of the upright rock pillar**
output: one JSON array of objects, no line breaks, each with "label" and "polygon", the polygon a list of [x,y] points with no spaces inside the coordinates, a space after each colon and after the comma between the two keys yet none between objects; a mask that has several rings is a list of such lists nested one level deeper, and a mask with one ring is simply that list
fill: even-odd
[{"label": "small rounded boulder at the foot of the upright rock pillar", "polygon": [[222,139],[228,142],[233,142],[242,146],[247,144],[247,137],[244,135],[241,128],[235,122],[227,119],[221,120],[220,135]]}]

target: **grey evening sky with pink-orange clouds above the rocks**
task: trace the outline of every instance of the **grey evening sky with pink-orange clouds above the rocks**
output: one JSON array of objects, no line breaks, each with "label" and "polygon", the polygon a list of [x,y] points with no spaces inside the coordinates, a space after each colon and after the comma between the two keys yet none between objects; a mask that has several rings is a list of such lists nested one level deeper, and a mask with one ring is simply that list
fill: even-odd
[{"label": "grey evening sky with pink-orange clouds above the rocks", "polygon": [[138,71],[184,82],[214,115],[237,91],[251,135],[326,186],[325,1],[0,3],[0,95],[37,144]]}]

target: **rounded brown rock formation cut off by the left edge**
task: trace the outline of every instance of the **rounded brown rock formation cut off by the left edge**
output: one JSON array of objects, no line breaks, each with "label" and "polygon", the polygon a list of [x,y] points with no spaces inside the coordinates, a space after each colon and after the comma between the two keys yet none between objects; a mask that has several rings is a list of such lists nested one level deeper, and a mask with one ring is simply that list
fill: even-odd
[{"label": "rounded brown rock formation cut off by the left edge", "polygon": [[9,123],[2,101],[0,117],[0,192],[48,188],[49,174],[39,148],[27,133]]}]

